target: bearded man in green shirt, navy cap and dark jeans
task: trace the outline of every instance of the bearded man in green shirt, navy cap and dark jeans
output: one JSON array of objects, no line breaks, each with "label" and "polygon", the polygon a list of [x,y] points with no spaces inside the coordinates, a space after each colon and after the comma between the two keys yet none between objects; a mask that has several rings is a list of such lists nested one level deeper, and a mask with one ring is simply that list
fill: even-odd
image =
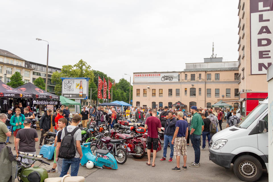
[{"label": "bearded man in green shirt, navy cap and dark jeans", "polygon": [[200,166],[200,138],[202,133],[202,128],[204,127],[204,122],[200,114],[198,114],[198,109],[196,106],[191,106],[191,114],[193,119],[191,120],[190,127],[190,139],[193,144],[194,150],[194,162],[192,162],[190,167],[199,167]]}]

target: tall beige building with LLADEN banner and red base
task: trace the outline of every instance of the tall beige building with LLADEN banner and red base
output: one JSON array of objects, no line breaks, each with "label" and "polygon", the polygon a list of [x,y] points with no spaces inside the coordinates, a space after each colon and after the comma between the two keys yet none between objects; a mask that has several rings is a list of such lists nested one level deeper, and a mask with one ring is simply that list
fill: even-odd
[{"label": "tall beige building with LLADEN banner and red base", "polygon": [[266,70],[273,63],[273,0],[239,0],[238,52],[240,99],[248,114],[267,97]]}]

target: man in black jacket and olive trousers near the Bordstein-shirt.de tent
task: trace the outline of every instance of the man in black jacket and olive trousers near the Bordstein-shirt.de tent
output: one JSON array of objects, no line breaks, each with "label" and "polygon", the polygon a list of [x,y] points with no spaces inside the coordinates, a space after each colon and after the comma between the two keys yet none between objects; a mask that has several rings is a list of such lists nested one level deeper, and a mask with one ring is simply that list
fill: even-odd
[{"label": "man in black jacket and olive trousers near the Bordstein-shirt.de tent", "polygon": [[[40,130],[41,130],[41,138],[40,138],[40,145],[39,148],[42,147],[42,142],[44,139],[44,134],[51,128],[51,109],[48,109],[47,112],[44,113],[44,115],[40,119]],[[44,144],[46,144],[46,140],[44,141]]]}]

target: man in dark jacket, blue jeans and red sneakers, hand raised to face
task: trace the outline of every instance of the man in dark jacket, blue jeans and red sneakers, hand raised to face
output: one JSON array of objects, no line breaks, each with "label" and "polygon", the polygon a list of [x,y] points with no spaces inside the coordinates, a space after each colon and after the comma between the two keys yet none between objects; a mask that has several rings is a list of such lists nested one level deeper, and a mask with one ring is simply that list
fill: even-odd
[{"label": "man in dark jacket, blue jeans and red sneakers, hand raised to face", "polygon": [[163,157],[162,159],[160,159],[160,161],[166,160],[168,143],[170,143],[171,153],[170,153],[169,162],[172,162],[173,161],[173,144],[171,144],[171,140],[173,139],[173,135],[175,132],[175,124],[177,120],[175,119],[175,117],[173,117],[173,111],[169,111],[168,117],[169,119],[166,120],[165,130],[164,130]]}]

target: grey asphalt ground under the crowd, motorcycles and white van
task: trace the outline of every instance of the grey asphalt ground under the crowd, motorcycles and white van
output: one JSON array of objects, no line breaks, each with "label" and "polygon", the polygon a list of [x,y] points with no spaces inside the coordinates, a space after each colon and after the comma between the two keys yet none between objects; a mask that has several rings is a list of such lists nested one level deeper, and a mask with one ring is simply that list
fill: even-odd
[{"label": "grey asphalt ground under the crowd, motorcycles and white van", "polygon": [[[226,123],[222,124],[223,129],[226,128]],[[219,127],[218,127],[219,129]],[[220,129],[219,129],[220,130]],[[41,132],[37,130],[39,140]],[[11,138],[11,142],[13,142],[13,134]],[[201,139],[202,143],[202,139]],[[190,142],[191,145],[191,142]],[[14,143],[8,144],[8,146],[12,147],[12,151],[15,154]],[[39,154],[40,149],[39,141],[36,142],[36,154]],[[168,162],[168,158],[170,155],[170,148],[167,148],[167,160],[161,162],[160,159],[163,156],[163,145],[162,150],[159,151],[156,155],[155,167],[147,166],[146,160],[148,160],[147,155],[145,156],[144,161],[135,161],[132,156],[128,156],[125,164],[118,164],[118,169],[87,169],[85,166],[80,166],[78,171],[78,176],[84,176],[86,182],[89,181],[131,181],[131,182],[139,182],[139,181],[241,181],[237,176],[233,173],[233,165],[231,165],[230,169],[225,169],[224,167],[218,166],[209,160],[209,150],[208,150],[208,142],[206,142],[206,150],[201,150],[200,156],[200,167],[189,167],[189,164],[194,161],[194,150],[193,147],[187,147],[187,170],[181,171],[172,171],[171,169],[176,166],[176,159],[173,157],[173,162]],[[40,162],[35,162],[35,166],[40,165],[40,167],[45,168],[46,170],[51,169],[53,166],[53,159],[47,160],[43,158],[45,161],[49,162],[51,165],[44,164],[40,165]],[[151,156],[152,159],[152,156]],[[182,158],[180,159],[180,166],[183,165]],[[70,173],[70,170],[69,170]],[[48,177],[59,177],[59,173],[48,173]],[[268,181],[268,174],[266,171],[263,172],[262,177],[259,182]]]}]

